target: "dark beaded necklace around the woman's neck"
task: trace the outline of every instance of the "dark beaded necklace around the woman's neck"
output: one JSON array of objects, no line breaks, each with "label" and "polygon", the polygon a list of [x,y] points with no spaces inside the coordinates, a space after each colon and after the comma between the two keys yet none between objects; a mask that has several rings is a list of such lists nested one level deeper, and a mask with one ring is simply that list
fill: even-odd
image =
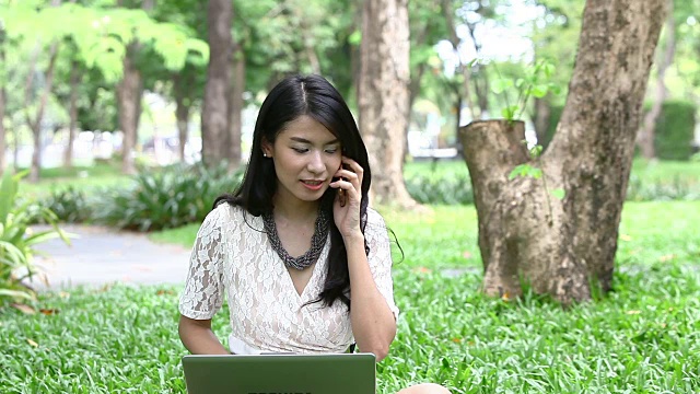
[{"label": "dark beaded necklace around the woman's neck", "polygon": [[299,270],[307,268],[312,264],[316,263],[320,255],[320,251],[323,251],[324,245],[326,244],[326,239],[328,237],[328,213],[319,209],[318,217],[316,217],[314,235],[311,237],[311,247],[303,255],[292,257],[282,246],[272,212],[262,213],[262,223],[265,224],[267,237],[270,240],[270,245],[272,245],[277,255],[280,256],[287,267]]}]

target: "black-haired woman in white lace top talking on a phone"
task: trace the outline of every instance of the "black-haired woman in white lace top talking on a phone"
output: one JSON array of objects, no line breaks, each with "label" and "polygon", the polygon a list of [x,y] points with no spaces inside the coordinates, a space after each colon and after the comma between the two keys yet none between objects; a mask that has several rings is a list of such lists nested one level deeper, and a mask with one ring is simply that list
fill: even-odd
[{"label": "black-haired woman in white lace top talking on a phone", "polygon": [[[179,335],[192,354],[343,352],[386,357],[396,335],[392,258],[368,208],[368,153],[347,104],[318,76],[269,93],[234,195],[202,223],[180,298]],[[295,256],[295,257],[292,257]],[[226,349],[211,331],[231,312]],[[409,393],[446,393],[422,384]]]}]

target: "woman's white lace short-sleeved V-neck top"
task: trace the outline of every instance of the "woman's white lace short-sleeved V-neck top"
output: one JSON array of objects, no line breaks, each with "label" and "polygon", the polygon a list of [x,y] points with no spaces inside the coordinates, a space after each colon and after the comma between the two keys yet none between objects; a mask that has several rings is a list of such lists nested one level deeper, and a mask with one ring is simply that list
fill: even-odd
[{"label": "woman's white lace short-sleeved V-neck top", "polygon": [[[387,230],[372,209],[368,209],[364,236],[374,281],[398,317]],[[262,218],[221,204],[197,234],[179,312],[189,318],[209,320],[221,308],[225,293],[232,352],[343,352],[354,341],[347,306],[340,300],[330,308],[322,302],[302,306],[316,300],[323,289],[329,245],[330,236],[300,296],[270,246]]]}]

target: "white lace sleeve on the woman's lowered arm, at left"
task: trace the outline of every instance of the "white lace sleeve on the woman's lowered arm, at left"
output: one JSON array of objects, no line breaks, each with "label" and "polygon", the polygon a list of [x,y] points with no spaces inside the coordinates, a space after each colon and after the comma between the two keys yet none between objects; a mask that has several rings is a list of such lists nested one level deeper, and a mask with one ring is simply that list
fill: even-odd
[{"label": "white lace sleeve on the woman's lowered arm, at left", "polygon": [[189,258],[185,289],[179,299],[179,313],[194,320],[210,320],[224,298],[222,216],[228,206],[209,212],[197,232]]}]

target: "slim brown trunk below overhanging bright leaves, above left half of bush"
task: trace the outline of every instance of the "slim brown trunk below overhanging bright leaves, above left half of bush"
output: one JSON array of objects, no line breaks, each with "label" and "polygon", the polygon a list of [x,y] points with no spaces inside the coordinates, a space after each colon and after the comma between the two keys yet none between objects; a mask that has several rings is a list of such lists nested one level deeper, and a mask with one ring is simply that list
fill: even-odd
[{"label": "slim brown trunk below overhanging bright leaves, above left half of bush", "polygon": [[121,172],[124,174],[136,173],[133,151],[138,138],[141,95],[143,94],[141,71],[139,71],[135,61],[139,48],[138,42],[127,46],[127,53],[124,56],[124,77],[117,84],[119,128],[124,134],[124,140],[121,141]]}]

